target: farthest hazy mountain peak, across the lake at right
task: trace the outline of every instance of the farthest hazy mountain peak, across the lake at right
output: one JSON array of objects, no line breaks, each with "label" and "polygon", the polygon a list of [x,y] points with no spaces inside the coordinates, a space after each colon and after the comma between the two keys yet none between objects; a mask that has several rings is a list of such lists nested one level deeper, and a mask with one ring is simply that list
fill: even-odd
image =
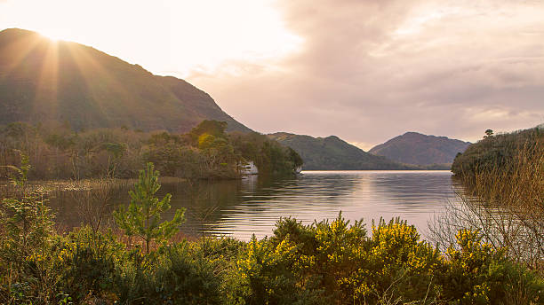
[{"label": "farthest hazy mountain peak, across the lake at right", "polygon": [[468,145],[470,143],[448,137],[406,132],[384,144],[374,146],[369,152],[408,164],[451,164],[455,155],[464,152]]}]

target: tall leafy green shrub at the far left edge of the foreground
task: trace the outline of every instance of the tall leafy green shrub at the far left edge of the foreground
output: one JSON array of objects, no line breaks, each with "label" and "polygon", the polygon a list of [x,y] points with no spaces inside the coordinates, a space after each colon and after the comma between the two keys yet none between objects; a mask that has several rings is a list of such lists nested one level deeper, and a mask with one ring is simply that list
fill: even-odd
[{"label": "tall leafy green shrub at the far left edge of the foreground", "polygon": [[28,157],[20,153],[12,184],[19,192],[0,199],[0,301],[51,301],[57,278],[52,265],[52,214],[39,192],[27,188]]}]

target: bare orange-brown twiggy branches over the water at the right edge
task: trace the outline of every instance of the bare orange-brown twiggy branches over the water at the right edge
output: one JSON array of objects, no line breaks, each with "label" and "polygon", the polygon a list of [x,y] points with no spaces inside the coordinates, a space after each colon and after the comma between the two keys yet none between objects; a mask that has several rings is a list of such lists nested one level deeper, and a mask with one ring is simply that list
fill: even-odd
[{"label": "bare orange-brown twiggy branches over the water at the right edge", "polygon": [[460,228],[479,231],[517,262],[544,270],[544,142],[523,145],[513,162],[481,171],[454,187],[458,202],[429,224],[430,238],[455,245]]}]

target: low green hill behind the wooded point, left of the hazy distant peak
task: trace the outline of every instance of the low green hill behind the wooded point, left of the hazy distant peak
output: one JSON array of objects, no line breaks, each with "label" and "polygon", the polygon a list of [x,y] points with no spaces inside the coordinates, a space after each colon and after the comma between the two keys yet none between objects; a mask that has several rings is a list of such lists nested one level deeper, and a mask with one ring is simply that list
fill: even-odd
[{"label": "low green hill behind the wooded point, left of the hazy distant peak", "polygon": [[415,168],[364,152],[335,136],[310,137],[278,132],[268,137],[298,152],[304,161],[302,168],[306,170]]}]

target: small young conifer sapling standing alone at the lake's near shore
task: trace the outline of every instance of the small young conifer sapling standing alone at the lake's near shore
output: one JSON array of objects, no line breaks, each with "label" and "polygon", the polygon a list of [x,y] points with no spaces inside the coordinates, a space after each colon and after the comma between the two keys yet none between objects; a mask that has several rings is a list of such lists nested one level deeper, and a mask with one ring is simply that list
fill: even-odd
[{"label": "small young conifer sapling standing alone at the lake's near shore", "polygon": [[149,244],[153,239],[164,241],[172,238],[185,220],[185,208],[179,208],[171,221],[160,222],[161,213],[170,209],[172,195],[168,193],[162,200],[155,197],[161,187],[158,176],[159,172],[149,162],[146,169],[140,170],[134,191],[129,192],[131,203],[128,209],[120,207],[114,212],[117,225],[126,235],[139,236],[146,242],[146,254],[149,253]]}]

